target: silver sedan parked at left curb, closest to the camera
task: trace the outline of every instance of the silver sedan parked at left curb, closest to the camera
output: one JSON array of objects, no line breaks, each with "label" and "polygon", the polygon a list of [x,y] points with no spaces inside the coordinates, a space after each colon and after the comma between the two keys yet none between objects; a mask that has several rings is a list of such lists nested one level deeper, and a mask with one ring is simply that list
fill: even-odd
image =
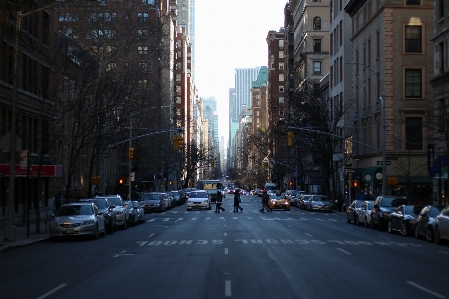
[{"label": "silver sedan parked at left curb, closest to the camera", "polygon": [[92,202],[63,204],[52,216],[49,224],[51,240],[67,236],[106,236],[103,213]]}]

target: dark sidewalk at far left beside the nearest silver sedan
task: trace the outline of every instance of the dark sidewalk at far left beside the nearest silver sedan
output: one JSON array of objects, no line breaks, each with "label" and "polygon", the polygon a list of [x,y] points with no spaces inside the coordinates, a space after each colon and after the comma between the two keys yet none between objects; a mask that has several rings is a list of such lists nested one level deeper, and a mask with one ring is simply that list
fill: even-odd
[{"label": "dark sidewalk at far left beside the nearest silver sedan", "polygon": [[36,242],[41,242],[48,239],[48,223],[40,223],[40,233],[36,233],[36,223],[30,223],[29,238],[27,238],[26,223],[15,228],[16,241],[5,241],[5,228],[0,227],[0,253],[14,250],[22,246],[27,246]]}]

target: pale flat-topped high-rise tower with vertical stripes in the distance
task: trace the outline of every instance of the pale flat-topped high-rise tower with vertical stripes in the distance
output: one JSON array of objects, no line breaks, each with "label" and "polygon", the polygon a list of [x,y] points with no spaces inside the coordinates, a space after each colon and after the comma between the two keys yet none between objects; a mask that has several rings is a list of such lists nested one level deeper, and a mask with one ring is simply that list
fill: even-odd
[{"label": "pale flat-topped high-rise tower with vertical stripes in the distance", "polygon": [[257,80],[260,67],[250,69],[235,69],[235,106],[233,115],[229,116],[233,120],[239,120],[242,112],[242,105],[251,107],[251,87],[253,81]]}]

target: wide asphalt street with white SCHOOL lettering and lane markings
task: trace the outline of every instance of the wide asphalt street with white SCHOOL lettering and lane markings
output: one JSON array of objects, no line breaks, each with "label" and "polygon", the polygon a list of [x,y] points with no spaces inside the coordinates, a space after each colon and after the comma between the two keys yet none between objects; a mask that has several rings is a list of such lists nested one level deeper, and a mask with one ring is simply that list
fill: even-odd
[{"label": "wide asphalt street with white SCHOOL lettering and lane markings", "polygon": [[346,223],[343,213],[186,211],[99,240],[0,254],[1,298],[449,298],[449,246]]}]

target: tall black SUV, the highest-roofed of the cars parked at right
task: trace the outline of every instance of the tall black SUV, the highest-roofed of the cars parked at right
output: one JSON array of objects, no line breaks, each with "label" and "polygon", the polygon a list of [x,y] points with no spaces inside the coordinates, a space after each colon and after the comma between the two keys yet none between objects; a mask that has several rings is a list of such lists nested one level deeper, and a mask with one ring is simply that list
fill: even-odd
[{"label": "tall black SUV, the highest-roofed of the cars parked at right", "polygon": [[390,221],[390,215],[400,205],[409,205],[409,200],[399,196],[378,196],[371,212],[371,228],[384,230]]}]

